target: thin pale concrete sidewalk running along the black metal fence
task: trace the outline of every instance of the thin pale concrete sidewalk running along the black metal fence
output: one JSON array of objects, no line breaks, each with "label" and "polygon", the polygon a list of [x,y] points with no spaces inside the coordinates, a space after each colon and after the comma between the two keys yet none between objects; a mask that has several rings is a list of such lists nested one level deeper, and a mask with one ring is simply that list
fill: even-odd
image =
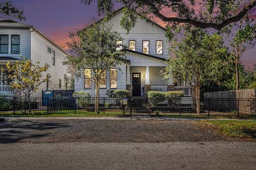
[{"label": "thin pale concrete sidewalk running along the black metal fence", "polygon": [[0,117],[5,120],[154,120],[154,121],[202,121],[202,120],[236,120],[255,121],[231,118],[186,118],[186,117],[150,117],[150,116],[127,116],[127,117]]}]

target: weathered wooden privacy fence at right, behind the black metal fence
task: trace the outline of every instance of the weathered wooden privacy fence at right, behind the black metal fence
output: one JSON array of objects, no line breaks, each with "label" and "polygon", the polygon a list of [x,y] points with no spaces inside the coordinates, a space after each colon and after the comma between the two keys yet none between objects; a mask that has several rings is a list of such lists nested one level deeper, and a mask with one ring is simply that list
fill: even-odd
[{"label": "weathered wooden privacy fence at right, behind the black metal fence", "polygon": [[256,89],[205,92],[204,99],[211,99],[205,103],[210,110],[230,110],[238,114],[256,112]]}]

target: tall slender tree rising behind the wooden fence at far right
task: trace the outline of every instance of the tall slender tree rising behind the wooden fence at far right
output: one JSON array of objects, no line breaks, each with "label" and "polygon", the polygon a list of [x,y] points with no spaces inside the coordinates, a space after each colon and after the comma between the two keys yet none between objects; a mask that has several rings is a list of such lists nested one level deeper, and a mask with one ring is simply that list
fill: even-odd
[{"label": "tall slender tree rising behind the wooden fence at far right", "polygon": [[243,54],[256,45],[256,23],[246,15],[241,21],[228,25],[222,33],[233,55],[231,61],[236,65],[236,89],[239,90],[239,65]]}]

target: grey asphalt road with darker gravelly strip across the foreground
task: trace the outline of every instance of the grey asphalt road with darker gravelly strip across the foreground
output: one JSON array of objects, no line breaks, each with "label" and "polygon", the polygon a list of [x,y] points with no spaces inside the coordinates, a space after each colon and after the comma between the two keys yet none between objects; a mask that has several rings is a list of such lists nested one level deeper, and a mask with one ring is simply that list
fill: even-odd
[{"label": "grey asphalt road with darker gravelly strip across the foreground", "polygon": [[0,123],[0,169],[255,169],[256,143],[181,121]]}]

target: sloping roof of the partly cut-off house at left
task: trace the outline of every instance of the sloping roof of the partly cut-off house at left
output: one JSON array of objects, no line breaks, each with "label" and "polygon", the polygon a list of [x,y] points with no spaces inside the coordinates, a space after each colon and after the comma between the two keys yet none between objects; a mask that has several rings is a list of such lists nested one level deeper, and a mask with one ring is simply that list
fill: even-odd
[{"label": "sloping roof of the partly cut-off house at left", "polygon": [[46,35],[44,35],[43,32],[41,32],[40,30],[38,30],[36,27],[34,27],[33,25],[28,25],[25,23],[21,23],[21,22],[17,22],[17,21],[13,21],[13,20],[0,20],[0,27],[19,27],[19,28],[32,28],[34,29],[36,32],[38,32],[39,34],[41,34],[44,38],[46,38],[47,40],[49,40],[52,44],[54,44],[56,47],[58,47],[60,50],[62,50],[62,52],[64,52],[65,54],[69,55],[63,48],[61,48],[58,44],[56,44],[53,40],[51,40],[49,37],[47,37]]}]

